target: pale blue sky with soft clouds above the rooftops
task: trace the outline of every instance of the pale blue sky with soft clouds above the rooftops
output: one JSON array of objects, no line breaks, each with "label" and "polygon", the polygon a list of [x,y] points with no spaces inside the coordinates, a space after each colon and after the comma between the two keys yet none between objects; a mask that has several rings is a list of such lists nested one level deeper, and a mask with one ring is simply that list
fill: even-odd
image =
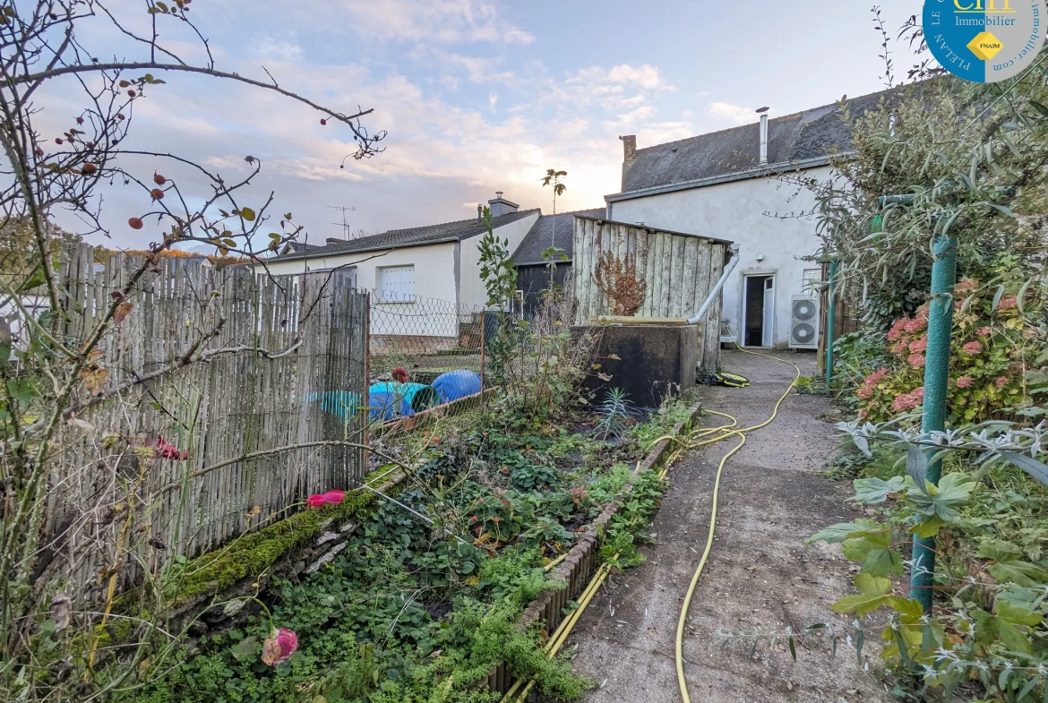
[{"label": "pale blue sky with soft clouds above the rooftops", "polygon": [[[920,9],[879,4],[893,28]],[[247,201],[274,192],[312,242],[342,235],[329,205],[355,207],[349,225],[367,233],[465,219],[495,191],[548,213],[550,168],[568,172],[559,211],[603,206],[618,191],[619,135],[643,148],[755,122],[762,106],[783,115],[883,88],[870,6],[854,0],[196,0],[192,10],[219,68],[264,79],[264,66],[336,110],[372,108],[365,125],[388,131],[384,153],[340,169],[349,130],[270,92],[179,74],[136,103],[134,145],[227,178],[246,173],[244,156],[262,159]],[[90,31],[101,56],[132,56],[101,23]],[[161,31],[196,53],[178,27]],[[70,94],[56,85],[41,96],[49,119],[77,114]],[[129,166],[145,178],[163,168]],[[104,195],[111,244],[155,238],[126,225],[148,206],[140,193]]]}]

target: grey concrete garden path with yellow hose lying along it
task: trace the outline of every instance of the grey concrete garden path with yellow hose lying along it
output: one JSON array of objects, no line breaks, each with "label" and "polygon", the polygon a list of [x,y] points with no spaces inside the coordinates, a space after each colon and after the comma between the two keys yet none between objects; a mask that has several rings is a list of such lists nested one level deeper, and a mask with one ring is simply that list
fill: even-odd
[{"label": "grey concrete garden path with yellow hose lying along it", "polygon": [[[787,355],[803,375],[815,371],[810,354]],[[724,369],[742,373],[746,389],[704,388],[707,409],[739,418],[740,426],[767,419],[793,369],[741,352],[726,353]],[[695,703],[840,703],[891,701],[877,675],[875,640],[864,665],[845,643],[831,656],[828,636],[799,643],[798,660],[785,640],[816,622],[842,632],[850,618],[830,606],[848,592],[853,568],[839,548],[804,547],[821,528],[855,517],[846,506],[847,483],[816,475],[836,446],[824,397],[791,394],[779,419],[750,435],[728,460],[721,483],[714,552],[696,589],[684,640],[691,698]],[[709,417],[706,424],[720,424]],[[678,703],[674,642],[684,592],[706,541],[711,491],[721,457],[734,442],[685,456],[670,473],[672,488],[655,520],[657,544],[648,561],[602,588],[565,651],[578,645],[576,673],[603,684],[586,703]],[[755,641],[757,646],[755,650]],[[867,671],[864,671],[867,669]]]}]

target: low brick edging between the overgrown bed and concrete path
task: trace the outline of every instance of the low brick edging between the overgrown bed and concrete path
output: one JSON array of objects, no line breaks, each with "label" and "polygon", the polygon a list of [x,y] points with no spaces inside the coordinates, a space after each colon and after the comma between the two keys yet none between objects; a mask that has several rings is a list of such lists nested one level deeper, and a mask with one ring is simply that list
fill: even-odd
[{"label": "low brick edging between the overgrown bed and concrete path", "polygon": [[[692,405],[692,413],[689,420],[696,420],[702,413],[702,402]],[[674,437],[684,429],[685,422],[678,422],[674,425],[670,434]],[[672,440],[663,439],[652,447],[651,452],[633,471],[633,478],[623,486],[618,495],[612,499],[611,503],[597,515],[596,520],[587,526],[586,533],[580,537],[575,546],[568,552],[567,557],[553,571],[552,580],[568,581],[568,588],[561,591],[546,591],[538,598],[528,603],[521,616],[520,627],[527,630],[539,620],[546,621],[546,632],[552,634],[556,627],[564,619],[564,609],[568,602],[574,600],[585,589],[596,571],[601,563],[601,543],[605,531],[611,523],[611,519],[618,512],[624,499],[633,490],[633,482],[645,471],[655,468],[670,453]],[[506,671],[505,664],[499,664],[492,669],[487,676],[487,686],[495,693],[504,694],[514,683],[514,678]]]}]

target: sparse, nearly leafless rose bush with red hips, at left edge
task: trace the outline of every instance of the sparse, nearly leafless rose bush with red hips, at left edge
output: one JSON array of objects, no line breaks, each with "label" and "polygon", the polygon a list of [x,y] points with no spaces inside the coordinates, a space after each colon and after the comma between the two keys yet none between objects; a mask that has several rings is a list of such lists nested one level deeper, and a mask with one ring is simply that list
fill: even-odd
[{"label": "sparse, nearly leafless rose bush with red hips, at left edge", "polygon": [[[100,34],[85,27],[99,23],[108,24],[112,30],[108,36],[121,37],[125,43],[92,44],[91,38]],[[149,28],[137,31],[138,26]],[[172,38],[170,44],[159,41],[161,34]],[[181,58],[185,41],[195,42],[206,59],[195,64]],[[109,51],[128,58],[109,59],[105,56]],[[290,213],[270,215],[272,194],[260,197],[249,192],[262,168],[254,156],[244,157],[249,168],[246,176],[227,179],[177,154],[128,147],[135,106],[162,89],[161,76],[191,73],[275,92],[316,110],[322,120],[350,130],[356,144],[354,158],[377,153],[385,134],[372,134],[361,123],[370,110],[340,112],[278,85],[271,76],[262,81],[219,70],[208,41],[192,21],[189,0],[167,4],[148,0],[133,6],[102,0],[8,3],[0,8],[0,441],[4,443],[0,455],[0,698],[68,700],[73,695],[71,686],[77,686],[79,700],[92,700],[146,672],[148,667],[138,664],[150,652],[159,655],[151,656],[157,668],[149,671],[162,669],[160,655],[170,652],[167,644],[151,650],[156,638],[166,641],[168,637],[158,624],[163,603],[155,600],[147,611],[151,620],[136,624],[136,637],[140,637],[134,644],[124,651],[105,647],[108,656],[114,652],[126,656],[122,673],[107,683],[93,683],[96,654],[102,650],[97,625],[110,615],[122,556],[141,549],[147,555],[140,565],[143,573],[156,574],[158,554],[167,547],[162,541],[154,542],[148,528],[139,529],[141,519],[148,525],[151,506],[130,497],[136,496],[136,487],[143,485],[158,456],[181,448],[172,445],[169,449],[155,441],[150,445],[116,430],[93,427],[85,419],[85,410],[105,405],[109,416],[118,418],[130,387],[119,387],[117,377],[130,377],[132,386],[139,386],[147,376],[176,374],[198,365],[214,351],[212,343],[223,329],[244,329],[254,318],[245,307],[238,313],[244,320],[212,318],[199,327],[156,330],[153,342],[169,345],[170,363],[158,368],[132,364],[127,374],[112,373],[113,359],[107,356],[110,342],[126,333],[144,281],[161,270],[162,258],[174,245],[210,244],[223,256],[243,257],[264,268],[259,250],[276,250],[302,229]],[[46,109],[48,95],[56,93],[66,103],[82,106],[57,131],[43,127],[58,124]],[[194,176],[171,177],[169,167],[175,166]],[[79,237],[109,235],[101,218],[103,184],[123,184],[139,192],[141,207],[129,214],[127,226],[139,229],[149,221],[161,234],[145,256],[134,263],[129,260],[104,298],[70,296],[61,276],[69,270],[69,262],[63,262],[59,252],[63,244]],[[206,194],[202,198],[197,196],[201,185]],[[82,228],[71,235],[61,232],[52,219],[59,210],[66,211],[70,221],[83,223]],[[269,220],[280,224],[269,224]],[[266,237],[269,230],[272,234]],[[83,263],[93,266],[95,262]],[[206,308],[208,302],[202,305]],[[43,313],[38,312],[40,308]],[[84,310],[91,311],[91,324],[78,328],[73,318]],[[305,309],[303,315],[309,314]],[[178,334],[184,338],[175,339]],[[224,353],[265,364],[288,351],[263,350],[257,339],[248,338]],[[157,413],[166,413],[173,425],[199,421],[185,414],[194,407],[194,389],[177,383],[172,389],[170,397],[152,400]],[[281,451],[274,448],[274,453]],[[68,473],[59,470],[63,462]],[[198,466],[197,470],[211,468]],[[63,488],[54,483],[56,476],[74,481],[92,471],[112,477],[112,485],[102,487],[103,492],[124,493],[129,500],[95,501],[71,514],[47,513],[48,495]],[[49,520],[54,524],[47,533],[58,536],[47,541],[43,535]],[[115,531],[110,532],[110,527]],[[100,547],[113,557],[92,587],[104,594],[102,613],[74,610],[56,577],[59,543],[92,533],[107,535]],[[115,535],[112,542],[108,542],[110,534]],[[162,596],[162,589],[154,590],[158,598]],[[41,634],[41,621],[54,627]],[[43,658],[37,650],[41,642],[54,647]]]}]

